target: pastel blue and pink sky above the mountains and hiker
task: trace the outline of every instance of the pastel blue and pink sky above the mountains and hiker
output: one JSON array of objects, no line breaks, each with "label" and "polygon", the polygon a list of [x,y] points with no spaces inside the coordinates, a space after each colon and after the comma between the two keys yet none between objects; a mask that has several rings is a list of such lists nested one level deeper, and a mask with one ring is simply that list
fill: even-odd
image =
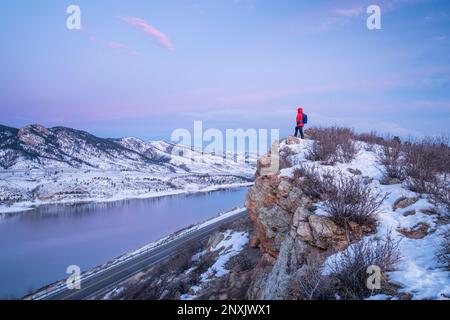
[{"label": "pastel blue and pink sky above the mountains and hiker", "polygon": [[[81,8],[82,30],[66,28]],[[378,4],[382,29],[368,30]],[[169,139],[176,128],[448,132],[448,0],[0,2],[0,124]]]}]

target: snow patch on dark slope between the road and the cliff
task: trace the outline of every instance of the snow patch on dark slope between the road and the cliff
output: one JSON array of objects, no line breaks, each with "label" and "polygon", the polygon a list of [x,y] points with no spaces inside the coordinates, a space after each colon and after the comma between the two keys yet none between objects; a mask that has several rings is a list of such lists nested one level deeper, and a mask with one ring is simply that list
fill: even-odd
[{"label": "snow patch on dark slope between the road and the cliff", "polygon": [[[226,269],[225,265],[232,257],[238,255],[242,249],[244,249],[248,244],[248,241],[249,235],[247,232],[225,231],[223,239],[210,249],[212,252],[218,253],[216,261],[208,268],[208,270],[200,275],[200,283],[190,288],[189,292],[191,294],[183,294],[180,299],[195,299],[198,291],[202,289],[201,285],[203,283],[208,282],[215,277],[223,277],[228,274],[229,270]],[[200,255],[202,254],[204,254],[204,252],[200,253]]]}]

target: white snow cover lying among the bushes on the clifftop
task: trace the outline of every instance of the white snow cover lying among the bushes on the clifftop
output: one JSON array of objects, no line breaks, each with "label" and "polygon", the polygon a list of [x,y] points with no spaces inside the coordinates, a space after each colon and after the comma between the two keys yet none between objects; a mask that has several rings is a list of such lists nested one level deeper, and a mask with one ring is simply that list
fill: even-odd
[{"label": "white snow cover lying among the bushes on the clifftop", "polygon": [[[306,161],[305,155],[312,143],[312,140],[302,140],[300,144],[287,146],[294,153],[291,159],[294,166],[283,169],[281,174],[292,176],[294,170],[302,164],[315,165],[318,170],[339,170],[348,175],[351,175],[347,170],[348,168],[358,169],[362,176],[372,178],[372,187],[383,194],[388,193],[389,196],[383,202],[378,214],[377,233],[362,241],[382,239],[387,232],[391,231],[394,240],[400,240],[401,259],[396,265],[395,271],[388,274],[390,282],[400,286],[400,292],[411,294],[413,299],[449,299],[450,271],[448,271],[447,266],[439,261],[437,254],[439,245],[444,240],[444,235],[448,234],[450,227],[448,220],[443,219],[443,216],[448,215],[448,213],[443,212],[445,209],[441,208],[440,214],[433,213],[429,209],[434,206],[430,203],[427,195],[412,192],[402,184],[382,185],[380,183],[382,178],[381,165],[377,162],[376,147],[374,151],[366,151],[365,144],[357,142],[360,151],[352,162],[324,166],[320,165],[319,162]],[[284,146],[286,145],[282,144],[281,148]],[[414,203],[405,208],[395,209],[394,204],[400,198],[416,199],[417,201],[412,201]],[[316,213],[327,214],[320,209],[320,206]],[[400,232],[414,231],[421,226],[427,226],[426,235],[423,238],[406,237]],[[336,256],[333,255],[329,259],[336,259]],[[372,298],[391,299],[392,297],[379,295]]]}]

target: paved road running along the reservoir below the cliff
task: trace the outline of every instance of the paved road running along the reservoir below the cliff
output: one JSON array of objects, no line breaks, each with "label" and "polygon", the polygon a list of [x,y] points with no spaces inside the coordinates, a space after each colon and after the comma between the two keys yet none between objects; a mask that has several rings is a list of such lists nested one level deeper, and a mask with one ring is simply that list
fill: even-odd
[{"label": "paved road running along the reservoir below the cliff", "polygon": [[64,289],[46,296],[45,300],[83,300],[92,298],[98,294],[106,293],[112,290],[115,285],[127,278],[149,268],[158,262],[166,260],[174,254],[184,250],[186,243],[191,241],[200,241],[217,231],[222,225],[235,221],[247,215],[247,211],[241,212],[229,218],[215,222],[202,229],[186,234],[174,241],[161,245],[151,251],[145,252],[138,257],[112,267],[106,271],[100,272],[88,279],[81,280],[80,290]]}]

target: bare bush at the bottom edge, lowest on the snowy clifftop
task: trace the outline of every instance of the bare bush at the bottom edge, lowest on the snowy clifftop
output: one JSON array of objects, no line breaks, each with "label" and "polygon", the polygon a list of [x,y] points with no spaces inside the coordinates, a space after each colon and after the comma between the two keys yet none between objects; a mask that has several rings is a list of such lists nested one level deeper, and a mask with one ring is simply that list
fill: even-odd
[{"label": "bare bush at the bottom edge, lowest on the snowy clifftop", "polygon": [[339,282],[338,291],[343,299],[364,299],[373,293],[367,286],[368,268],[380,268],[381,290],[388,292],[391,285],[385,273],[392,271],[399,259],[399,241],[388,233],[384,239],[363,240],[349,246],[330,259],[328,267],[331,277]]}]

